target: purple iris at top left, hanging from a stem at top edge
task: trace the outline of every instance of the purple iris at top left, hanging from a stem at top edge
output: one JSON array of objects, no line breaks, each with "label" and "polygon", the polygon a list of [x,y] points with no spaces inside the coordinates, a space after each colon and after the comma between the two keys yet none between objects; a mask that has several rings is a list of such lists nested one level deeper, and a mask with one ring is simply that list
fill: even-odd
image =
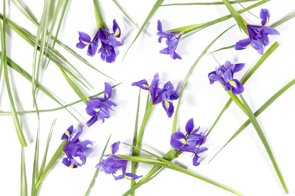
[{"label": "purple iris at top left, hanging from a stem at top edge", "polygon": [[101,53],[101,59],[107,63],[113,63],[116,61],[115,48],[122,46],[124,42],[117,41],[117,38],[121,36],[121,30],[115,19],[113,21],[113,33],[110,33],[104,28],[99,27],[92,42],[90,36],[87,33],[80,31],[78,31],[78,33],[79,43],[76,45],[78,49],[84,49],[86,46],[88,46],[87,54],[89,56],[94,56],[98,49],[98,40],[100,40],[101,47],[98,49],[97,53]]}]

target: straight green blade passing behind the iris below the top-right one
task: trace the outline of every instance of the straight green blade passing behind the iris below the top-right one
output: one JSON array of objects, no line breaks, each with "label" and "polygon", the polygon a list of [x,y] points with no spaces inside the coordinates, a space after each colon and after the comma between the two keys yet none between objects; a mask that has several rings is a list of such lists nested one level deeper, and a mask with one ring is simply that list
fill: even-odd
[{"label": "straight green blade passing behind the iris below the top-right one", "polygon": [[[253,66],[253,68],[242,77],[242,79],[240,80],[241,84],[244,85],[248,81],[248,79],[256,72],[256,70],[262,65],[262,63],[266,60],[266,58],[268,56],[270,56],[270,54],[275,49],[277,49],[278,47],[279,47],[279,43],[275,42],[269,49],[267,49],[267,51],[261,56],[261,58]],[[215,120],[215,122],[210,127],[209,131],[206,134],[207,136],[212,131],[212,129],[214,128],[215,124],[219,121],[219,119],[222,116],[222,114],[224,113],[224,111],[229,107],[229,105],[231,104],[231,102],[232,102],[232,99],[230,98],[228,100],[228,102],[225,104],[225,106],[223,107],[223,109],[221,110],[221,112],[219,113],[219,115],[218,115],[217,119]]]}]

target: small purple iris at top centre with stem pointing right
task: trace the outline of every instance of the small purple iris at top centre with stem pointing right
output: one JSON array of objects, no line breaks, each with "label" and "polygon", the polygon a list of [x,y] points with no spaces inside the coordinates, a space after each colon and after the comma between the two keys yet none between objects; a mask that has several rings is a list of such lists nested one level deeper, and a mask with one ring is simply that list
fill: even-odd
[{"label": "small purple iris at top centre with stem pointing right", "polygon": [[168,46],[167,48],[164,48],[160,50],[161,54],[170,54],[170,56],[173,59],[181,59],[181,56],[175,52],[179,39],[182,35],[183,32],[177,31],[177,32],[166,32],[163,31],[162,29],[162,24],[161,21],[158,20],[158,32],[157,35],[159,36],[158,42],[162,43],[162,39],[166,38],[166,45]]}]

